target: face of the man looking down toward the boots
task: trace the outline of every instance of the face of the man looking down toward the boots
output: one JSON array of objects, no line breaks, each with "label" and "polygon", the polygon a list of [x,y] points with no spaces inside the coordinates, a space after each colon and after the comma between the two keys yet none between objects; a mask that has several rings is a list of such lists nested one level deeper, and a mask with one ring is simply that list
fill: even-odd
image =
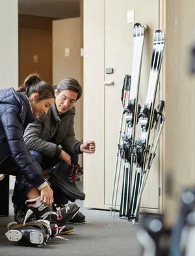
[{"label": "face of the man looking down toward the boots", "polygon": [[73,107],[77,100],[77,95],[78,93],[72,91],[71,89],[64,89],[60,93],[57,89],[55,89],[55,104],[57,106],[59,115],[64,114]]}]

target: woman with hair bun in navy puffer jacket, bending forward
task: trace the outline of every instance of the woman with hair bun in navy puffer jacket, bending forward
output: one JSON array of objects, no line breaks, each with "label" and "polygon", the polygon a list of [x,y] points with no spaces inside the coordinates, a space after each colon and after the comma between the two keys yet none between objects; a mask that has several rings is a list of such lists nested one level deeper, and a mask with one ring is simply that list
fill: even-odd
[{"label": "woman with hair bun in navy puffer jacket, bending forward", "polygon": [[14,88],[0,90],[0,173],[16,176],[20,191],[28,199],[41,196],[42,202],[50,206],[53,191],[27,150],[23,132],[34,118],[47,114],[55,93],[53,86],[40,80],[37,74],[29,75],[22,89],[25,93]]}]

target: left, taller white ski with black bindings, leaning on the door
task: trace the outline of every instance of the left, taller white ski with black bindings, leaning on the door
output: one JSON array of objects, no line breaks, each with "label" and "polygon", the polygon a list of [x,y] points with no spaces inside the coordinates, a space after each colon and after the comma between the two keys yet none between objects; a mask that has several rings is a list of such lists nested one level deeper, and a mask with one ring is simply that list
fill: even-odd
[{"label": "left, taller white ski with black bindings, leaning on the door", "polygon": [[[120,217],[127,217],[130,191],[131,191],[131,144],[135,139],[135,124],[137,117],[137,96],[140,82],[140,70],[142,64],[142,52],[144,45],[144,37],[146,33],[146,26],[136,22],[133,26],[133,61],[132,61],[132,75],[131,88],[129,97],[125,101],[122,115],[124,118],[122,140],[118,143],[118,150],[120,152],[119,175],[122,168],[123,160],[123,185],[122,185],[122,199],[120,203]],[[116,208],[117,193],[114,201],[114,209]]]}]

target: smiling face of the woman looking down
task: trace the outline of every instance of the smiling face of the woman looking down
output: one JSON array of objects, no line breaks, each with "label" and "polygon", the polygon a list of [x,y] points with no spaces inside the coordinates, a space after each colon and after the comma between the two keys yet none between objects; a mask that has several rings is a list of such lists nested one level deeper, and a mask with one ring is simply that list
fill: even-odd
[{"label": "smiling face of the woman looking down", "polygon": [[34,97],[29,98],[31,102],[32,114],[34,118],[38,118],[42,114],[47,114],[49,108],[51,108],[51,106],[55,101],[55,99],[53,98],[36,101],[37,98],[38,98],[38,93],[34,93]]}]

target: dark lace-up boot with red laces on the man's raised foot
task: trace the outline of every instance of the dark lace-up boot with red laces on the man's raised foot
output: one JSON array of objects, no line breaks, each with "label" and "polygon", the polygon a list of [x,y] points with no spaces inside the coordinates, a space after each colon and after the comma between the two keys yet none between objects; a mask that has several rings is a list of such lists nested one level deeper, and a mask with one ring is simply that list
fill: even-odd
[{"label": "dark lace-up boot with red laces on the man's raised foot", "polygon": [[77,187],[75,182],[78,172],[80,172],[79,165],[68,165],[68,163],[60,161],[57,165],[51,167],[49,182],[54,187],[62,189],[67,197],[85,200],[85,193]]}]

